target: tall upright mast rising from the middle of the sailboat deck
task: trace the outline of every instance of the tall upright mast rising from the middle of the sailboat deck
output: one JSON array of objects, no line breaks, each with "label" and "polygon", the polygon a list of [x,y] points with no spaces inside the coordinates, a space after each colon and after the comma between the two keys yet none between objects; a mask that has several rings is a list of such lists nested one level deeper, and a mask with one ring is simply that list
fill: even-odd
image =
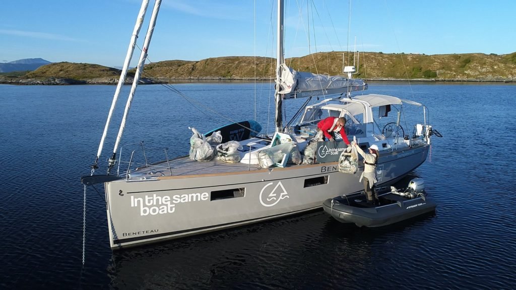
[{"label": "tall upright mast rising from the middle of the sailboat deck", "polygon": [[274,99],[276,102],[276,116],[275,116],[275,124],[276,124],[276,132],[282,132],[282,98],[283,95],[279,93],[280,91],[280,76],[281,76],[281,64],[284,62],[283,55],[283,0],[278,0],[278,44],[276,50],[276,92],[274,94]]}]

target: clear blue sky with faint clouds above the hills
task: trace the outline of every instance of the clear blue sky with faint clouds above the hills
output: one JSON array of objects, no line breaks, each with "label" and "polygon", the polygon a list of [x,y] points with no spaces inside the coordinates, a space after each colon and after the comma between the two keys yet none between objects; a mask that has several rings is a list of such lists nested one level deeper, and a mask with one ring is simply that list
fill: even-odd
[{"label": "clear blue sky with faint clouds above the hills", "polygon": [[[2,1],[0,62],[41,57],[52,62],[121,66],[140,3],[139,0]],[[275,3],[163,0],[149,59],[156,62],[219,56],[275,57],[276,30],[270,21],[272,18],[275,22]],[[355,37],[357,50],[366,52],[516,52],[513,32],[516,1],[512,0],[355,0],[351,3],[349,37],[348,0],[312,0],[308,4],[307,0],[288,0],[285,10],[286,57],[316,51],[345,51],[348,43],[353,50]],[[149,19],[150,13],[146,21]],[[140,33],[140,47],[146,29],[142,28]]]}]

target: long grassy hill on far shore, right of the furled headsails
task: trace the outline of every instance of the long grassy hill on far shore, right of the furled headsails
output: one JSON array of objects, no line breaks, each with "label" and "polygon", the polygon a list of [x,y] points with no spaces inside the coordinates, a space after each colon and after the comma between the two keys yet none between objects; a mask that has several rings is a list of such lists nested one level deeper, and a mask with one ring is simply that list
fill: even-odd
[{"label": "long grassy hill on far shore, right of the furled headsails", "polygon": [[[289,58],[287,65],[298,71],[319,74],[342,74],[342,60],[347,52],[314,53]],[[353,54],[349,57],[353,59]],[[154,78],[170,79],[271,79],[276,60],[267,57],[217,57],[199,61],[168,60],[147,65],[144,72]],[[256,76],[256,77],[255,77]],[[482,80],[516,81],[516,53],[495,54],[383,54],[360,53],[358,74],[372,80]]]}]

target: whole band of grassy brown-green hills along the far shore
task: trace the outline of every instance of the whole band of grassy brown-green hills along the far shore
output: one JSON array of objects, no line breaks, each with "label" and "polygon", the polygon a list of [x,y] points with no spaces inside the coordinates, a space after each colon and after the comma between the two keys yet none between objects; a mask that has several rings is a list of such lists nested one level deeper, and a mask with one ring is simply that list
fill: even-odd
[{"label": "whole band of grassy brown-green hills along the far shore", "polygon": [[[298,71],[342,74],[353,53],[324,52],[289,58],[285,62]],[[169,79],[273,79],[276,60],[268,57],[229,56],[199,61],[166,60],[144,67],[143,77]],[[384,54],[360,53],[354,77],[369,80],[516,81],[516,52],[496,54]],[[135,69],[127,74],[132,82]],[[0,74],[0,83],[10,84],[116,84],[120,70],[89,63],[58,62],[28,73]]]}]

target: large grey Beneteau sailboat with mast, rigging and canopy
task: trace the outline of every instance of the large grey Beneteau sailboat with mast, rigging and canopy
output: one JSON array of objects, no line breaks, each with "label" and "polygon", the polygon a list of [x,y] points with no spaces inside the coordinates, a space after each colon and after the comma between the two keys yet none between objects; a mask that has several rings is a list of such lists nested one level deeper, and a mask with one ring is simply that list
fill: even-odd
[{"label": "large grey Beneteau sailboat with mast, rigging and canopy", "polygon": [[[257,134],[260,126],[256,122],[238,122],[213,130],[211,133],[220,132],[218,134],[222,139],[238,142],[240,162],[235,163],[214,159],[199,162],[192,160],[190,156],[169,158],[166,150],[163,161],[154,164],[147,161],[143,165],[135,164],[132,161],[135,151],[127,154],[120,150],[117,159],[118,143],[143,70],[143,62],[147,57],[160,2],[157,0],[154,5],[115,150],[108,162],[108,174],[93,173],[98,168],[97,161],[111,111],[92,166],[92,174],[82,178],[85,185],[104,184],[112,249],[300,214],[320,209],[326,199],[359,192],[362,185],[358,182],[358,176],[363,170],[363,163],[359,162],[356,174],[342,173],[338,170],[338,158],[346,148],[344,142],[314,140],[317,123],[326,117],[345,117],[348,138],[356,138],[360,147],[368,148],[373,144],[378,146],[380,157],[377,175],[381,185],[398,181],[425,162],[432,135],[425,106],[389,95],[352,96],[354,91],[367,89],[364,80],[352,78],[355,71],[352,66],[344,70],[348,77],[329,77],[298,72],[285,65],[281,0],[278,1],[277,9],[275,133],[267,136]],[[148,0],[143,0],[132,44],[127,53],[129,59],[147,5]],[[128,66],[127,58],[121,82]],[[116,103],[120,86],[119,83],[112,107]],[[284,101],[298,98],[310,100],[314,96],[324,96],[324,100],[305,105],[296,114],[299,121],[283,125],[281,113]],[[407,105],[418,108],[423,115],[412,127],[412,134],[405,132],[408,127],[404,129],[401,124],[404,107]],[[393,121],[385,123],[388,115],[391,115]],[[376,116],[382,116],[382,119],[379,120]],[[381,125],[383,123],[380,121],[385,124]],[[308,153],[309,147],[314,149],[312,153]],[[289,163],[293,148],[304,153],[304,159],[308,162]],[[141,146],[143,156],[146,156],[144,149]],[[122,163],[122,157],[129,160]],[[264,166],[263,158],[273,159],[272,163]],[[111,173],[115,167],[118,168],[117,172]]]}]

